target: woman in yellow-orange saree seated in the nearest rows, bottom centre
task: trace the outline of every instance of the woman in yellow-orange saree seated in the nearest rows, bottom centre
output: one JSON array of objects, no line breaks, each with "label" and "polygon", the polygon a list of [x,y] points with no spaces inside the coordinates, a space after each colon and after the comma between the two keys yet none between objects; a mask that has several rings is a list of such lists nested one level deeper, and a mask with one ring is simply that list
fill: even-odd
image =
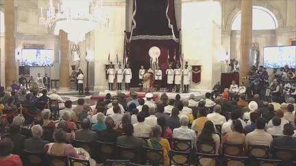
[{"label": "woman in yellow-orange saree seated in the nearest rows, bottom centre", "polygon": [[164,166],[169,166],[169,151],[171,146],[169,141],[161,137],[162,128],[160,125],[156,125],[151,130],[152,137],[148,139],[149,148],[162,149],[164,151]]}]

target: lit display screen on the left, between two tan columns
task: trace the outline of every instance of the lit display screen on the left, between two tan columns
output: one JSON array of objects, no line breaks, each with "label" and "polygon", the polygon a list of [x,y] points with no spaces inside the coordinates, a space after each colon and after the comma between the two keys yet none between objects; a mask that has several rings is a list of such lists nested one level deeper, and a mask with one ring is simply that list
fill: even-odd
[{"label": "lit display screen on the left, between two tan columns", "polygon": [[47,49],[23,49],[22,66],[53,66],[54,51]]}]

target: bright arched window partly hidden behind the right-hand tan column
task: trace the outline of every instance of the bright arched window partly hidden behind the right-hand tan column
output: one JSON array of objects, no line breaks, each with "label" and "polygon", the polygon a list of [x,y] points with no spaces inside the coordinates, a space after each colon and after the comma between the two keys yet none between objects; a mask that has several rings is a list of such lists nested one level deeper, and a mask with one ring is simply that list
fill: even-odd
[{"label": "bright arched window partly hidden behind the right-hand tan column", "polygon": [[[232,30],[240,31],[241,11],[232,20]],[[253,6],[253,30],[277,29],[273,12],[261,6]]]}]

